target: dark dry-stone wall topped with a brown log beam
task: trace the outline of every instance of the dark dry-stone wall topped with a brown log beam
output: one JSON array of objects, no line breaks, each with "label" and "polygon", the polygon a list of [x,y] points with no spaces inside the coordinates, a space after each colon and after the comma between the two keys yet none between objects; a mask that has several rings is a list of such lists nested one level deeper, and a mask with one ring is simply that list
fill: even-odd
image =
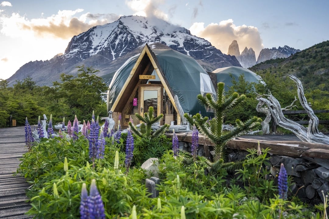
[{"label": "dark dry-stone wall topped with a brown log beam", "polygon": [[[172,134],[166,134],[172,137]],[[191,134],[177,134],[181,150],[190,152]],[[198,155],[212,159],[214,144],[199,135]],[[298,141],[264,141],[251,139],[234,139],[227,144],[229,161],[244,158],[247,148],[270,148],[268,154],[271,163],[268,168],[277,175],[283,163],[288,176],[291,176],[291,191],[302,201],[310,204],[323,203],[323,195],[329,193],[329,146]],[[328,149],[327,149],[328,148]],[[275,178],[277,181],[277,178]]]}]

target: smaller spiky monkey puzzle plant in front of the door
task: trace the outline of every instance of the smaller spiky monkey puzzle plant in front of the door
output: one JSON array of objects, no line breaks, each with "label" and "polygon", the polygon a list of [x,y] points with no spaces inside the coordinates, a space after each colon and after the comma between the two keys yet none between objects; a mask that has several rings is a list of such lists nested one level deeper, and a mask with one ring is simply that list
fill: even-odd
[{"label": "smaller spiky monkey puzzle plant in front of the door", "polygon": [[164,117],[163,114],[154,117],[153,107],[148,108],[148,112],[144,113],[144,117],[142,117],[138,113],[135,113],[135,115],[139,119],[139,121],[142,122],[139,127],[140,129],[137,129],[137,127],[131,122],[129,122],[129,127],[134,134],[138,135],[141,138],[150,139],[153,137],[158,137],[160,136],[160,134],[163,134],[169,128],[168,124],[164,124],[163,126],[160,126],[160,129],[156,130],[155,132],[152,132],[152,125],[159,122]]}]

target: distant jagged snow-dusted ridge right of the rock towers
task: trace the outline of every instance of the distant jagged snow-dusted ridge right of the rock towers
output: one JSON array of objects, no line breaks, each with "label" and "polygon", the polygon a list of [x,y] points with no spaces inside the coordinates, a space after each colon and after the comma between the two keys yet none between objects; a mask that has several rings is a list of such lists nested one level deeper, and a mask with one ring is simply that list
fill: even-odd
[{"label": "distant jagged snow-dusted ridge right of the rock towers", "polygon": [[300,50],[294,49],[287,45],[285,45],[284,47],[279,46],[279,48],[273,47],[272,49],[265,48],[262,49],[259,53],[259,56],[257,58],[257,64],[269,59],[287,58],[291,56],[291,54],[295,54],[296,52],[300,52]]}]

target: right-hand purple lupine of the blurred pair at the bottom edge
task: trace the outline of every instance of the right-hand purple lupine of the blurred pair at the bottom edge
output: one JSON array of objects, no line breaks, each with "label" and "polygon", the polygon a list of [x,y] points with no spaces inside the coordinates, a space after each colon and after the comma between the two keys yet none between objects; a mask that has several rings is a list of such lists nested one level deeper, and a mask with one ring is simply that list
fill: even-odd
[{"label": "right-hand purple lupine of the blurred pair at the bottom edge", "polygon": [[90,192],[87,203],[89,218],[105,219],[104,204],[102,201],[102,197],[97,190],[95,179],[91,180]]}]

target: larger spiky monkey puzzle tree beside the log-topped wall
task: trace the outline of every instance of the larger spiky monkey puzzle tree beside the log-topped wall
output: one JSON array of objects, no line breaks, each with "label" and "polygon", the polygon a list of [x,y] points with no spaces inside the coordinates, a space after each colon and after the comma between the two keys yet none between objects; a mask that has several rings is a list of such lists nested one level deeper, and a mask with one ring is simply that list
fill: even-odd
[{"label": "larger spiky monkey puzzle tree beside the log-topped wall", "polygon": [[207,93],[205,96],[199,94],[198,100],[206,108],[214,110],[214,118],[210,120],[210,124],[207,123],[208,117],[202,117],[199,113],[190,116],[185,113],[184,117],[190,124],[195,126],[201,131],[202,134],[206,135],[211,141],[215,143],[215,161],[223,159],[225,152],[226,143],[233,137],[245,134],[247,131],[255,129],[260,126],[261,119],[254,116],[245,122],[236,120],[235,128],[231,131],[224,131],[222,125],[224,124],[225,113],[233,107],[240,104],[244,99],[245,95],[239,95],[237,92],[225,96],[224,95],[224,83],[217,84],[216,100],[212,94]]}]

